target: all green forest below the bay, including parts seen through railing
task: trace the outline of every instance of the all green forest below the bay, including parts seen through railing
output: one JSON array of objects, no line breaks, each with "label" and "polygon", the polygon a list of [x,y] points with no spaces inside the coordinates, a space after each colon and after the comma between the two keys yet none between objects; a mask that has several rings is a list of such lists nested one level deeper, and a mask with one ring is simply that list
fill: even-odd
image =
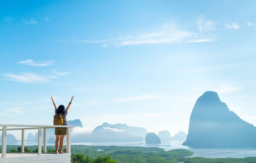
[{"label": "all green forest below the bay, including parts seen through railing", "polygon": [[[25,147],[25,152],[37,152],[37,147]],[[55,153],[55,146],[47,146],[47,149],[47,152]],[[7,151],[19,152],[21,147],[8,145]],[[63,151],[66,152],[66,149]],[[186,149],[164,151],[164,149],[156,147],[72,145],[71,153],[72,163],[256,163],[256,157],[187,158],[186,156],[191,156],[194,152]]]}]

